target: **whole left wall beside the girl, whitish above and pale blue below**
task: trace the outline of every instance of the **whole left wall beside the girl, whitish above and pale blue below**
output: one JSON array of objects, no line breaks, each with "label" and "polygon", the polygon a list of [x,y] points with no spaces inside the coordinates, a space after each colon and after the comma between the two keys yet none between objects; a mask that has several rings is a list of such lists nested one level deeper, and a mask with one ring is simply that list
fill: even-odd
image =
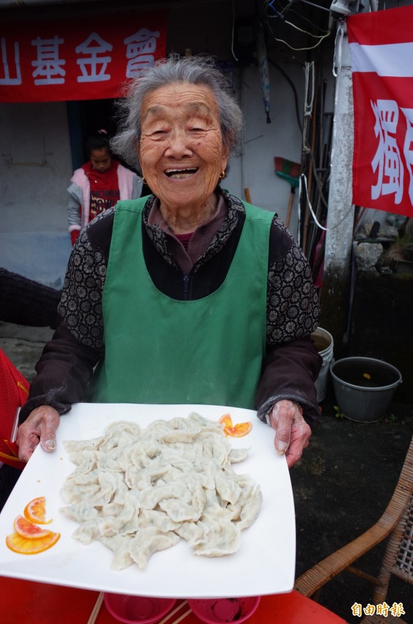
[{"label": "whole left wall beside the girl, whitish above and pale blue below", "polygon": [[0,103],[0,265],[60,288],[70,254],[65,102]]}]

